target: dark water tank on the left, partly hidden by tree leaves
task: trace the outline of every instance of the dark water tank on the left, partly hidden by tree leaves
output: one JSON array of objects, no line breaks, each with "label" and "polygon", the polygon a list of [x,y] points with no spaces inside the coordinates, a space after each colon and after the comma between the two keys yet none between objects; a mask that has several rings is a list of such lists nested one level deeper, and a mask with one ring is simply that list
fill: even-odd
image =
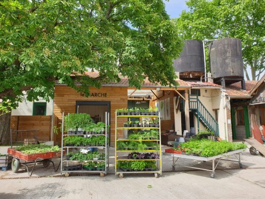
[{"label": "dark water tank on the left, partly hidden by tree leaves", "polygon": [[202,41],[185,40],[183,50],[176,60],[173,60],[177,72],[204,73],[204,57]]}]

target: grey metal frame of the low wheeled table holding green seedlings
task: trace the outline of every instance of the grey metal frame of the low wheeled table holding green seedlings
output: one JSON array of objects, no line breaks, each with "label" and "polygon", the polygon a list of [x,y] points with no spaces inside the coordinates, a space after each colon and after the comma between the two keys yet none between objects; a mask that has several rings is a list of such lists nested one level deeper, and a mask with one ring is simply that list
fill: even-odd
[{"label": "grey metal frame of the low wheeled table holding green seedlings", "polygon": [[[179,158],[185,158],[185,159],[203,161],[203,162],[212,161],[213,162],[213,167],[212,167],[211,170],[210,169],[202,169],[202,168],[198,168],[198,167],[189,167],[189,166],[183,166],[183,167],[192,168],[192,169],[198,169],[198,170],[204,170],[204,171],[210,171],[211,172],[210,177],[214,178],[215,177],[215,170],[216,170],[216,168],[217,168],[217,166],[218,166],[218,164],[220,163],[221,160],[222,161],[237,162],[237,163],[239,163],[239,167],[242,169],[240,153],[243,152],[244,150],[245,149],[234,150],[234,151],[230,151],[230,152],[223,153],[223,154],[220,154],[220,155],[216,155],[216,156],[213,156],[213,157],[200,157],[200,156],[194,156],[194,155],[183,155],[183,154],[166,153],[166,152],[163,152],[163,155],[172,156],[173,157],[173,162],[172,162],[173,163],[172,164],[173,170],[175,170],[176,165],[177,165],[176,162],[179,160]],[[236,154],[238,154],[238,157],[236,156]],[[228,160],[227,158],[224,159],[225,157],[230,156],[230,155],[234,155],[237,158],[237,161]],[[175,160],[175,158],[177,158],[177,159]],[[217,164],[215,163],[216,160],[218,160]]]}]

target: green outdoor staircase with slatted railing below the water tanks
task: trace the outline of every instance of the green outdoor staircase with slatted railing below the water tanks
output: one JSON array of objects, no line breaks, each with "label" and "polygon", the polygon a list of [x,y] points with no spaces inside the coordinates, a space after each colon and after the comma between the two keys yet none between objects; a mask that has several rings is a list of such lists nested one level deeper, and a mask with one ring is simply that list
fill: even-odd
[{"label": "green outdoor staircase with slatted railing below the water tanks", "polygon": [[198,129],[200,122],[204,127],[215,132],[216,136],[219,136],[218,122],[201,103],[197,95],[189,95],[189,109],[197,117]]}]

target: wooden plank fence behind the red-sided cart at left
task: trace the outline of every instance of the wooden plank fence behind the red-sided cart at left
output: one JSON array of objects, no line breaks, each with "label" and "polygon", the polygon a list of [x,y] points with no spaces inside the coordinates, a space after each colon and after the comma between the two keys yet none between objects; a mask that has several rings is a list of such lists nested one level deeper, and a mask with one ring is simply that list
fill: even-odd
[{"label": "wooden plank fence behind the red-sided cart at left", "polygon": [[[51,115],[19,115],[11,116],[10,128],[15,131],[31,131],[37,130],[38,141],[49,141],[51,126],[52,126],[52,116]],[[28,138],[34,138],[35,134],[33,132],[28,133]],[[14,140],[16,135],[12,135]],[[25,133],[18,134],[18,140],[24,141],[26,138]]]}]

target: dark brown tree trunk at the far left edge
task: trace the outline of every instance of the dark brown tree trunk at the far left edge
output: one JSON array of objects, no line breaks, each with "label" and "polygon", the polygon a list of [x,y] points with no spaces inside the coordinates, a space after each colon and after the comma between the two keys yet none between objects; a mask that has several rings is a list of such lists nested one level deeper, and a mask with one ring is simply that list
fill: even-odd
[{"label": "dark brown tree trunk at the far left edge", "polygon": [[10,142],[11,112],[0,115],[0,145]]}]

